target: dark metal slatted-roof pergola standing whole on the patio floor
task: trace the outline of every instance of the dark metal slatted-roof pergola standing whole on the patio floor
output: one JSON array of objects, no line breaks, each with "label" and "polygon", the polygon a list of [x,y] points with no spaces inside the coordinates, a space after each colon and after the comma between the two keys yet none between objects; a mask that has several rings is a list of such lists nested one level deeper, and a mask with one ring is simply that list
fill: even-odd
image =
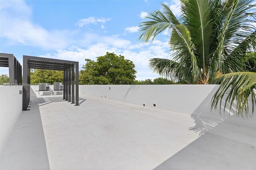
[{"label": "dark metal slatted-roof pergola standing whole on the patio floor", "polygon": [[[76,67],[76,71],[75,71]],[[26,111],[30,102],[30,69],[48,69],[64,71],[63,73],[63,99],[79,105],[79,81],[78,81],[79,63],[76,61],[67,61],[61,59],[52,59],[44,57],[34,57],[23,55],[23,104],[22,110]],[[75,88],[76,72],[76,88]],[[42,82],[47,83],[47,82]],[[76,93],[75,93],[76,89]],[[76,97],[76,100],[75,100]]]}]

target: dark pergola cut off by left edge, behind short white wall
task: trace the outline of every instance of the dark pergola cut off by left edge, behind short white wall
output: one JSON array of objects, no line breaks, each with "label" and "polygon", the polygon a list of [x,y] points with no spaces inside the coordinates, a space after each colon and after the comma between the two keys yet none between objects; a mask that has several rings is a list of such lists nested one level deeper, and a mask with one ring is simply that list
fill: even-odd
[{"label": "dark pergola cut off by left edge, behind short white wall", "polygon": [[0,67],[9,67],[10,85],[22,83],[22,66],[13,54],[0,53]]}]

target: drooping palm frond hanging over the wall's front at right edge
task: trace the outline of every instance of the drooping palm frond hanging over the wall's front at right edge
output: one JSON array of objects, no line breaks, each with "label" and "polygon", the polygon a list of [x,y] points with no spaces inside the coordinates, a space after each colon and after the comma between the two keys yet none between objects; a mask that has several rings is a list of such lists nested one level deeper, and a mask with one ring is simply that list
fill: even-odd
[{"label": "drooping palm frond hanging over the wall's front at right edge", "polygon": [[[212,84],[219,84],[220,87],[212,97],[212,109],[217,109],[218,103],[221,103],[225,93],[230,89],[225,99],[224,111],[229,105],[229,110],[236,104],[236,114],[241,117],[252,117],[254,105],[256,104],[256,73],[236,72],[220,75],[216,77]],[[248,99],[252,101],[252,113],[250,113]]]}]

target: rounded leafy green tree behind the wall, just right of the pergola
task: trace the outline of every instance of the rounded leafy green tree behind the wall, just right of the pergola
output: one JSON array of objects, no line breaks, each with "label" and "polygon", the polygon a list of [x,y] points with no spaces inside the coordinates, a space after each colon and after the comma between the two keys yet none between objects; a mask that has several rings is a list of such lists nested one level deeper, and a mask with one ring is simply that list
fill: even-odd
[{"label": "rounded leafy green tree behind the wall, just right of the pergola", "polygon": [[136,70],[132,61],[122,55],[107,52],[96,61],[85,59],[86,64],[80,71],[80,84],[134,84]]}]

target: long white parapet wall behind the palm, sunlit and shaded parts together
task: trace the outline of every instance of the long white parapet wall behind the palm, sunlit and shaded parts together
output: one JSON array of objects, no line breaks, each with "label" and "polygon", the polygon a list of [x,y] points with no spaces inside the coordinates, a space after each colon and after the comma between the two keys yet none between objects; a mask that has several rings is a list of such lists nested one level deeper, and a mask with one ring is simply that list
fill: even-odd
[{"label": "long white parapet wall behind the palm, sunlit and shaded parts together", "polygon": [[79,93],[189,114],[193,119],[226,119],[232,123],[255,127],[256,108],[252,119],[237,119],[235,113],[227,109],[224,113],[223,106],[221,115],[219,110],[211,111],[211,99],[218,87],[219,85],[79,85]]}]

